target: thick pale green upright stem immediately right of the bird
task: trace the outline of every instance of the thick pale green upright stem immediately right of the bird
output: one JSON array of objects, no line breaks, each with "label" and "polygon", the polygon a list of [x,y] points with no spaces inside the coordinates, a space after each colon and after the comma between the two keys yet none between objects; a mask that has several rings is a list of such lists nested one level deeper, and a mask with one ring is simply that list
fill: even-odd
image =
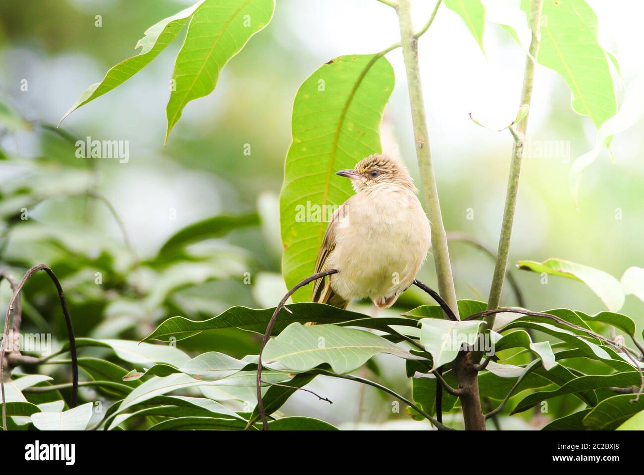
[{"label": "thick pale green upright stem immediately right of the bird", "polygon": [[[430,25],[439,6],[440,2],[434,8],[429,22]],[[458,317],[454,279],[451,275],[450,253],[440,213],[439,192],[436,186],[433,165],[431,164],[430,140],[425,116],[425,104],[422,97],[421,71],[418,62],[418,40],[413,33],[410,0],[400,0],[397,12],[410,106],[412,107],[416,156],[421,172],[422,196],[431,222],[431,246],[438,277],[439,293]]]}]

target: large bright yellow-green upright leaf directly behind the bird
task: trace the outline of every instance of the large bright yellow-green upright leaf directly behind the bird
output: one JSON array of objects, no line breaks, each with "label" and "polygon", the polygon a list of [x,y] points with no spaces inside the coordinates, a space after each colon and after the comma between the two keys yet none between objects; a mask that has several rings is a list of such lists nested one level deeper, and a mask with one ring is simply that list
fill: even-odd
[{"label": "large bright yellow-green upright leaf directly behind the bird", "polygon": [[[288,288],[313,274],[328,218],[353,194],[335,172],[381,151],[380,122],[392,91],[393,68],[381,54],[337,57],[300,86],[279,197]],[[292,299],[309,301],[310,292],[302,288]]]}]

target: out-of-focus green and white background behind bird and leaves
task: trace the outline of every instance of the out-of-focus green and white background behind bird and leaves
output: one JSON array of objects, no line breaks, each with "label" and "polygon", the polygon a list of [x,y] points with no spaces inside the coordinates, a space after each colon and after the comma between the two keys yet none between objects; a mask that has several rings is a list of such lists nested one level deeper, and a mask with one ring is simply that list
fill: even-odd
[{"label": "out-of-focus green and white background behind bird and leaves", "polygon": [[[644,5],[638,0],[587,1],[598,15],[602,46],[620,63],[615,84],[621,104],[625,84],[644,68],[639,25]],[[72,113],[59,131],[52,130],[82,91],[136,53],[133,48],[149,26],[191,3],[0,3],[0,259],[18,279],[28,266],[52,266],[68,293],[77,335],[138,340],[173,315],[201,319],[232,305],[274,306],[285,292],[279,275],[278,196],[296,91],[334,57],[374,53],[399,40],[393,10],[375,0],[278,0],[272,23],[229,62],[214,93],[185,107],[167,147],[168,84],[185,31],[132,79]],[[417,26],[426,22],[433,5],[413,3]],[[101,15],[100,27],[96,15]],[[496,249],[512,139],[509,133],[478,127],[468,113],[493,125],[514,118],[524,53],[491,23],[484,48],[486,55],[460,17],[444,6],[419,42],[445,226]],[[401,51],[387,58],[396,88],[384,115],[383,149],[399,152],[418,182]],[[574,158],[594,146],[595,128],[589,118],[574,113],[570,96],[561,77],[538,66],[529,136],[564,144],[564,153],[524,160],[510,260],[560,257],[619,279],[629,266],[644,266],[644,121],[614,138],[615,163],[604,151],[587,169],[577,210],[567,187],[568,170]],[[127,140],[128,163],[77,158],[74,142],[86,136]],[[246,144],[251,154],[244,153]],[[88,196],[88,190],[106,198],[113,210]],[[28,219],[21,219],[23,209]],[[199,243],[182,256],[158,254],[186,225],[253,212],[260,214],[260,225]],[[493,261],[463,243],[451,243],[450,250],[459,299],[486,299]],[[511,272],[532,310],[605,310],[582,283],[551,277],[544,285],[537,274]],[[435,286],[431,258],[419,278]],[[424,295],[408,293],[392,312],[426,303]],[[3,286],[3,303],[9,295]],[[50,328],[64,339],[55,297],[46,277],[30,281],[24,324]],[[503,303],[516,304],[507,284]],[[374,312],[366,303],[355,308]],[[627,297],[621,312],[641,329],[641,301]],[[216,350],[242,357],[258,351],[259,339],[243,331],[218,331],[179,347],[193,354]],[[379,378],[408,385],[402,360],[384,356],[376,361]],[[410,420],[404,409],[392,413],[390,400],[371,388],[322,377],[311,387],[339,404],[299,393],[283,411],[345,427],[427,427]],[[534,425],[529,414],[506,424]]]}]

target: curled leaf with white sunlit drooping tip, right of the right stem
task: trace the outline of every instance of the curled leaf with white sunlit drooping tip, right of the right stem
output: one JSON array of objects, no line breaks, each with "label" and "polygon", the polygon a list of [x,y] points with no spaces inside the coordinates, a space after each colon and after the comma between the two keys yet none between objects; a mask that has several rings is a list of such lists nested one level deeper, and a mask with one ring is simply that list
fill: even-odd
[{"label": "curled leaf with white sunlit drooping tip, right of the right stem", "polygon": [[[546,0],[551,1],[551,0]],[[601,270],[583,266],[563,259],[548,259],[542,263],[534,261],[518,261],[516,266],[520,269],[533,272],[558,275],[585,283],[592,292],[600,297],[601,301],[611,312],[618,312],[624,304],[624,292],[620,282]]]}]

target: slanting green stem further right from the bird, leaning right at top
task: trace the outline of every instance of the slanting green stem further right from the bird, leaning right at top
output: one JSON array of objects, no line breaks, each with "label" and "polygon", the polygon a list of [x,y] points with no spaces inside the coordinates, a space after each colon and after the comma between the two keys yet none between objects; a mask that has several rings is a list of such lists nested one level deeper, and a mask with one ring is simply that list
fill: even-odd
[{"label": "slanting green stem further right from the bird, leaning right at top", "polygon": [[[532,39],[526,56],[526,69],[524,72],[524,82],[521,91],[520,105],[530,106],[532,98],[532,88],[535,81],[535,61],[539,51],[540,28],[541,28],[541,10],[544,0],[532,0],[530,5],[530,30],[532,30]],[[533,61],[534,60],[534,61]],[[497,264],[494,268],[492,285],[489,290],[488,309],[498,308],[501,300],[501,290],[503,288],[504,275],[507,268],[507,256],[510,250],[510,237],[512,234],[512,223],[515,218],[516,194],[519,187],[519,176],[521,173],[521,158],[524,145],[526,142],[527,120],[529,108],[526,116],[516,126],[515,142],[512,148],[512,158],[510,163],[509,178],[507,180],[506,208],[503,212],[503,223],[501,225],[501,234],[498,239]],[[513,134],[515,135],[515,134]],[[486,317],[485,328],[491,328],[494,324],[494,315]]]}]

